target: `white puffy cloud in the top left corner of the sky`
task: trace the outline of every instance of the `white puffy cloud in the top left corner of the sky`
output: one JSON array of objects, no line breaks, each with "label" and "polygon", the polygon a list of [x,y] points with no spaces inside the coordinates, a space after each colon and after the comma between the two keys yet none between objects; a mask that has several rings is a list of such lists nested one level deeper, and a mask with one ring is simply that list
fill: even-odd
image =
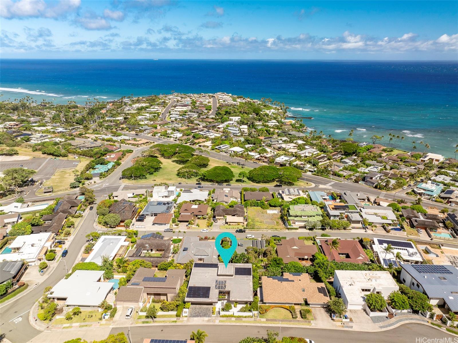
[{"label": "white puffy cloud in the top left corner of the sky", "polygon": [[46,3],[44,0],[1,0],[0,16],[7,19],[28,17],[58,19],[76,11],[80,5],[81,0],[60,0],[52,3]]}]

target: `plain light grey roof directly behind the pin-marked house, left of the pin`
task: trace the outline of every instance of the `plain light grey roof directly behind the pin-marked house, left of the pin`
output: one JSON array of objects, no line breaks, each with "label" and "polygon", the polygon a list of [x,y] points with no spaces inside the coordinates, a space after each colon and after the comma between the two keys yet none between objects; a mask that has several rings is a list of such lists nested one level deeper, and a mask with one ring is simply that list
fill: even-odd
[{"label": "plain light grey roof directly behind the pin-marked house, left of the pin", "polygon": [[177,263],[188,261],[218,263],[218,251],[213,242],[199,241],[199,237],[186,236],[176,258]]}]

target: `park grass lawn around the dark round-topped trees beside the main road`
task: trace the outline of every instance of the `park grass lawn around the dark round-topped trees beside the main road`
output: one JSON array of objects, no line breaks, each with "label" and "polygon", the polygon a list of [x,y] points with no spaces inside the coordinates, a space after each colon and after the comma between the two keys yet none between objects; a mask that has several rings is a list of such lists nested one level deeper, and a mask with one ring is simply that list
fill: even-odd
[{"label": "park grass lawn around the dark round-topped trees beside the main road", "polygon": [[[161,182],[165,182],[165,183],[183,182],[183,183],[189,184],[189,183],[197,182],[196,178],[183,179],[183,178],[176,176],[176,171],[183,166],[182,164],[174,163],[172,162],[172,159],[167,159],[167,158],[162,158],[162,157],[159,158],[159,160],[162,162],[162,168],[157,173],[153,175],[147,175],[146,179],[123,180],[123,182],[128,183],[128,184],[161,183]],[[224,161],[220,161],[216,158],[210,158],[210,163],[208,164],[208,167],[203,168],[202,170],[208,170],[216,166],[226,166],[232,170],[232,172],[234,173],[234,179],[231,181],[232,184],[238,184],[238,185],[244,185],[244,186],[258,186],[258,187],[262,187],[263,185],[277,184],[277,182],[272,182],[269,184],[255,184],[246,179],[244,179],[244,182],[242,183],[239,178],[239,173],[241,171],[249,172],[251,168],[248,168],[248,167],[242,168],[242,166],[232,165]],[[308,187],[310,185],[311,184],[306,181],[299,180],[298,182],[296,182],[296,186],[300,186],[300,187]]]}]

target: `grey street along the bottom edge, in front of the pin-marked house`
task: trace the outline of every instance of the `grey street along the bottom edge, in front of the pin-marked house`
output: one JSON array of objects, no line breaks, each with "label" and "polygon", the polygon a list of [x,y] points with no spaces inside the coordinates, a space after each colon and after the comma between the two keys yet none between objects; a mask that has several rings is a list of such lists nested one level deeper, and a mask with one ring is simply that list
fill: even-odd
[{"label": "grey street along the bottom edge, in front of the pin-marked house", "polygon": [[[424,325],[409,323],[401,325],[389,331],[383,332],[358,332],[346,330],[314,329],[311,327],[279,327],[267,325],[244,325],[244,324],[185,324],[185,325],[154,325],[130,327],[131,343],[142,343],[144,338],[169,338],[189,339],[192,331],[204,330],[208,334],[205,342],[208,343],[236,343],[247,336],[266,337],[267,330],[280,332],[281,337],[296,336],[309,338],[315,343],[339,342],[374,342],[374,343],[416,343],[415,338],[449,338],[453,336],[447,332],[441,332],[436,328]],[[125,332],[128,327],[115,327],[110,333]],[[77,332],[75,332],[77,333]],[[76,336],[80,337],[80,336]]]}]

